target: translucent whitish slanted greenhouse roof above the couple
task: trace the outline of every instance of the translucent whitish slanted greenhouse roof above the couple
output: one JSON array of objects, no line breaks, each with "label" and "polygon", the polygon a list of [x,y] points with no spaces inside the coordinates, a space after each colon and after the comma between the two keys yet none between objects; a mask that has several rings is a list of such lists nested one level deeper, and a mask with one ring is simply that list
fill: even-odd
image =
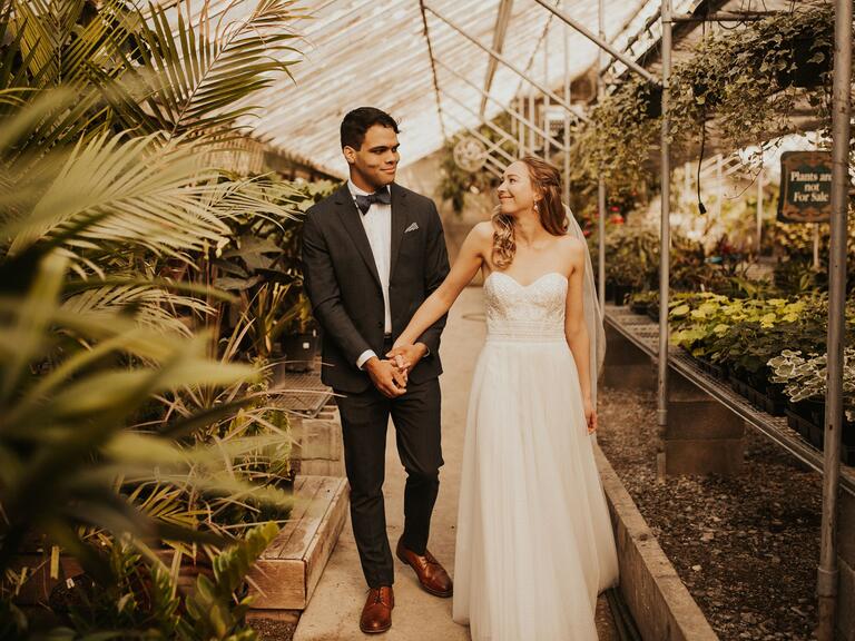
[{"label": "translucent whitish slanted greenhouse roof above the couple", "polygon": [[[194,12],[205,4],[204,0],[181,3]],[[216,13],[229,4],[228,14],[239,18],[256,2],[214,0],[208,10]],[[311,159],[325,171],[344,176],[338,126],[350,109],[374,106],[399,120],[402,166],[439,149],[443,130],[451,136],[479,125],[482,96],[468,82],[483,90],[490,56],[432,11],[492,47],[501,0],[425,0],[424,4],[434,56],[463,77],[436,67],[442,121],[419,0],[316,0],[294,3],[295,9],[309,13],[293,23],[301,36],[296,46],[303,59],[291,67],[294,81],[282,80],[254,97],[253,103],[262,107],[257,117],[247,121],[255,135]],[[557,4],[597,31],[596,1],[560,0]],[[606,0],[607,39],[623,32],[649,4],[650,0]],[[566,73],[573,79],[590,69],[597,47],[534,0],[513,0],[502,55],[537,82],[560,92]],[[495,116],[502,110],[500,105],[509,105],[514,96],[530,90],[529,82],[499,63],[490,86],[490,96],[499,105],[489,101],[485,116]]]}]

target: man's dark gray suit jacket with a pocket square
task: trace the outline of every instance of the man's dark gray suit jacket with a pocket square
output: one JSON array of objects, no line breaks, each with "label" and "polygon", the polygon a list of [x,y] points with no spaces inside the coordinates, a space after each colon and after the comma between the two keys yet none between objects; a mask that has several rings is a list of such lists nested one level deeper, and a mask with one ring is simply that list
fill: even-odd
[{"label": "man's dark gray suit jacket with a pocket square", "polygon": [[[390,307],[397,338],[419,306],[449,274],[442,221],[433,200],[401,187],[392,189]],[[303,226],[303,276],[322,329],[321,378],[334,389],[364,392],[368,375],[356,367],[366,349],[383,358],[385,309],[380,276],[362,214],[345,183],[306,213]],[[430,355],[410,373],[413,383],[442,373],[442,317],[419,338]]]}]

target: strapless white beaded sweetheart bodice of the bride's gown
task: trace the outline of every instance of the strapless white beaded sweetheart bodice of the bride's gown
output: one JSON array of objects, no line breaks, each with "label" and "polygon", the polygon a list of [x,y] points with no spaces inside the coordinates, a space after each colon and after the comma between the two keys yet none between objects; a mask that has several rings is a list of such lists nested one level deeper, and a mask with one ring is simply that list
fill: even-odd
[{"label": "strapless white beaded sweetheart bodice of the bride's gown", "polygon": [[487,339],[514,342],[564,341],[567,278],[558,272],[521,285],[502,272],[484,280]]}]

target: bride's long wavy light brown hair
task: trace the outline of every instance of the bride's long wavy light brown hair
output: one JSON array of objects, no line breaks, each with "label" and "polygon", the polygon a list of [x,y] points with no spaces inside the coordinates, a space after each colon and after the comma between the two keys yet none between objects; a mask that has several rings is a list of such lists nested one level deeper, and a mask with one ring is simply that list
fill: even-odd
[{"label": "bride's long wavy light brown hair", "polygon": [[[540,224],[553,236],[563,236],[567,233],[567,215],[561,204],[561,174],[552,165],[534,156],[523,156],[520,162],[528,168],[531,187],[541,197],[534,201],[540,214]],[[495,229],[492,258],[500,269],[509,267],[517,254],[513,223],[512,216],[502,214],[499,209],[493,214]]]}]

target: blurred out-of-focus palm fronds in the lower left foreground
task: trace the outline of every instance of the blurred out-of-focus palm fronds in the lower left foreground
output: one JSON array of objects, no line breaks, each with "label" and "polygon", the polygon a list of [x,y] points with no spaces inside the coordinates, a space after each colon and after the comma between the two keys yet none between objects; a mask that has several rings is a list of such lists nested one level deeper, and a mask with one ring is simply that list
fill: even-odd
[{"label": "blurred out-of-focus palm fronds in the lower left foreground", "polygon": [[[154,394],[188,384],[243,385],[254,376],[250,367],[205,358],[205,337],[187,341],[118,314],[63,309],[67,264],[49,255],[26,295],[0,297],[0,572],[33,526],[87,565],[94,560],[77,525],[145,533],[150,520],[112,491],[117,473],[150,474],[160,462],[176,476],[184,467],[186,476],[187,463],[214,458],[158,434],[128,431],[130,416]],[[80,341],[63,342],[63,335]],[[129,367],[110,355],[138,359]],[[39,375],[47,363],[52,369]],[[208,479],[205,486],[249,491],[228,477]],[[274,500],[269,491],[264,497]],[[174,527],[169,538],[179,534]]]}]

